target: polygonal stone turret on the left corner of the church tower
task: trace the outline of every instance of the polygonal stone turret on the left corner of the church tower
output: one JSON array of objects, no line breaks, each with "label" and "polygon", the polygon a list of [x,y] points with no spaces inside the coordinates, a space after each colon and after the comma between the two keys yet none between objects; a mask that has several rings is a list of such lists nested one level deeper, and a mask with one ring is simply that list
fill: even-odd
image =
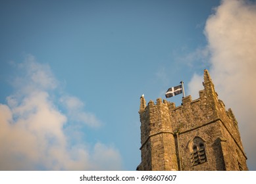
[{"label": "polygonal stone turret on the left corner of the church tower", "polygon": [[[141,101],[144,101],[141,99]],[[140,170],[178,170],[174,135],[170,124],[168,103],[149,101],[140,110],[141,164]]]}]

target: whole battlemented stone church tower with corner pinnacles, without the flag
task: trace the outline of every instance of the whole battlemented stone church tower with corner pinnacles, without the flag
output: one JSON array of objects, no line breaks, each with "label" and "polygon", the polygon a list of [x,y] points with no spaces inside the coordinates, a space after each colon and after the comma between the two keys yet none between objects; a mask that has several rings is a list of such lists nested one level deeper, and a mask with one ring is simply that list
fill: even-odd
[{"label": "whole battlemented stone church tower with corner pinnacles, without the flag", "polygon": [[199,99],[181,106],[140,99],[141,163],[137,170],[248,170],[238,122],[204,71]]}]

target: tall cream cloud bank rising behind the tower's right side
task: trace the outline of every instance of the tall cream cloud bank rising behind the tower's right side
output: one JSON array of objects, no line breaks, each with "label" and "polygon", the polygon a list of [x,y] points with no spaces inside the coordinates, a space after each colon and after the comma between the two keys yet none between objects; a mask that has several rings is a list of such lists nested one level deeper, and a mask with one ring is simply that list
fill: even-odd
[{"label": "tall cream cloud bank rising behind the tower's right side", "polygon": [[[225,0],[205,26],[210,56],[209,72],[215,89],[236,115],[249,169],[256,170],[256,5],[251,1]],[[192,97],[202,89],[203,76],[189,83]]]}]

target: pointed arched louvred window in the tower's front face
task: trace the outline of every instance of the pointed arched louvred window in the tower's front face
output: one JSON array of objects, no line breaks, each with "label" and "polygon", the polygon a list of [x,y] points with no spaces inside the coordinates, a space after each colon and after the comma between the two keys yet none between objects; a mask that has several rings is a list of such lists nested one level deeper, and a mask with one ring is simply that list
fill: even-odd
[{"label": "pointed arched louvred window in the tower's front face", "polygon": [[200,137],[195,137],[190,143],[191,162],[193,166],[206,162],[205,143]]}]

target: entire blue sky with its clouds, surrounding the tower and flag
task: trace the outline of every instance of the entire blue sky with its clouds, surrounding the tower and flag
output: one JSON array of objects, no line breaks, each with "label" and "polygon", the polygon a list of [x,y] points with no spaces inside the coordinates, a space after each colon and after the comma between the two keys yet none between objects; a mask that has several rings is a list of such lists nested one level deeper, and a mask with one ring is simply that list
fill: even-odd
[{"label": "entire blue sky with its clouds, surrounding the tower and flag", "polygon": [[136,170],[140,96],[197,99],[205,68],[256,170],[255,1],[1,0],[0,25],[0,170]]}]

